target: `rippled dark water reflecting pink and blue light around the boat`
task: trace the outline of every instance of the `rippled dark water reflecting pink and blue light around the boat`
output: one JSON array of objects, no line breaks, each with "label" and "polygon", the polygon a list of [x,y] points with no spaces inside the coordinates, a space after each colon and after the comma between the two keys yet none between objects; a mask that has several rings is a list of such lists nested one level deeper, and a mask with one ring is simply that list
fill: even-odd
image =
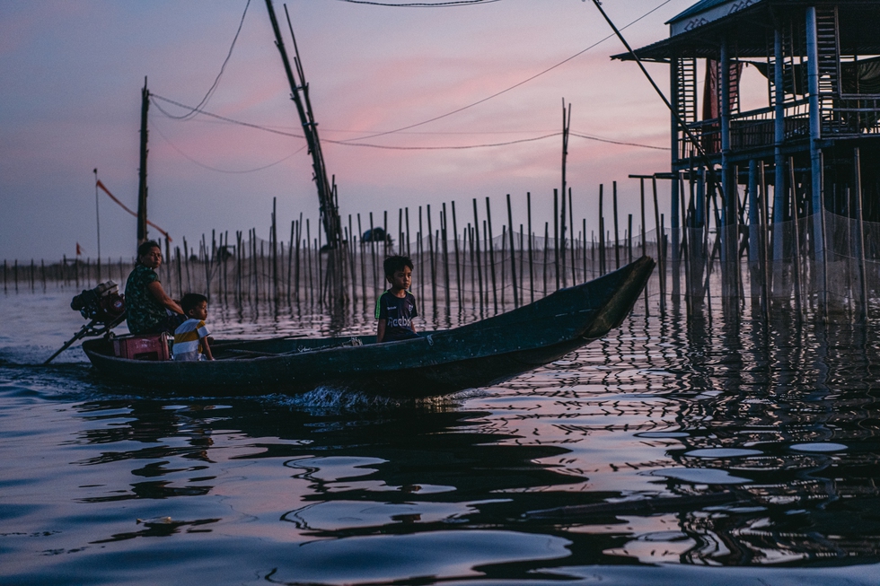
[{"label": "rippled dark water reflecting pink and blue light around the boat", "polygon": [[[0,297],[0,583],[880,583],[873,327],[653,300],[449,398],[156,398],[79,348],[37,365],[83,324],[69,297]],[[374,327],[360,308],[209,321]]]}]

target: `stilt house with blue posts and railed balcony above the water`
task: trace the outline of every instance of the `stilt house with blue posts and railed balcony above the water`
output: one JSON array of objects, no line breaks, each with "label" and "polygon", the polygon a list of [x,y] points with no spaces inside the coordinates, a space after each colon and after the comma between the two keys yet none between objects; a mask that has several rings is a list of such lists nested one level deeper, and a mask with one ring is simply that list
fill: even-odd
[{"label": "stilt house with blue posts and railed balcony above the water", "polygon": [[[880,258],[880,234],[859,232],[880,223],[880,2],[701,0],[668,25],[668,39],[614,58],[669,65],[672,171],[686,178],[672,182],[673,241],[715,201],[722,260],[754,260],[763,240],[772,261],[823,258],[814,277],[827,283],[844,229],[840,254]],[[851,222],[823,225],[829,214]],[[779,228],[793,218],[797,247]]]}]

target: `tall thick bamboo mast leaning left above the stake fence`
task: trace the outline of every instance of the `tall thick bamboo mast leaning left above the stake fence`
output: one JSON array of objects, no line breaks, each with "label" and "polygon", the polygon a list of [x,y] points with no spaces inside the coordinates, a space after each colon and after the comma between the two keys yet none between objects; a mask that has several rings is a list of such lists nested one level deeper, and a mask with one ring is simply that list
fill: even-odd
[{"label": "tall thick bamboo mast leaning left above the stake fence", "polygon": [[[303,66],[299,57],[299,50],[296,48],[296,39],[294,37],[293,27],[290,26],[290,18],[288,15],[287,24],[290,28],[290,36],[294,42],[294,64],[296,66],[296,74],[290,65],[290,59],[287,57],[287,51],[284,47],[284,41],[281,39],[281,30],[278,28],[278,21],[275,16],[275,8],[272,6],[272,0],[266,0],[268,8],[268,16],[272,22],[272,31],[275,32],[275,45],[281,54],[281,61],[284,64],[285,74],[287,75],[287,83],[290,83],[290,98],[296,104],[296,111],[299,113],[300,122],[303,125],[303,134],[309,147],[309,153],[312,155],[312,171],[314,172],[315,186],[318,188],[318,200],[321,204],[321,222],[324,226],[324,233],[327,235],[327,243],[330,248],[337,248],[342,241],[342,233],[340,229],[341,222],[339,220],[339,209],[333,199],[330,182],[327,180],[327,169],[324,167],[324,156],[321,153],[321,142],[318,140],[318,124],[312,116],[312,103],[309,101],[309,84],[305,82],[303,74]],[[286,7],[285,7],[286,12]],[[298,81],[297,81],[298,77]]]}]

